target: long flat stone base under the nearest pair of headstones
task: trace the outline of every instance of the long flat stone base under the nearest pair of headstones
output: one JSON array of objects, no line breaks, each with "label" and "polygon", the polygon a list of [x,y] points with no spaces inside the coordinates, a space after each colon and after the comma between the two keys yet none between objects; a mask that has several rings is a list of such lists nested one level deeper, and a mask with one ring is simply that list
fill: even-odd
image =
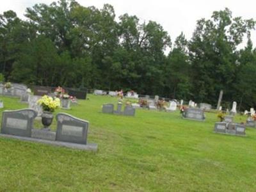
[{"label": "long flat stone base under the nearest pair of headstones", "polygon": [[55,145],[58,147],[68,147],[68,148],[74,148],[79,150],[90,150],[90,151],[97,151],[98,145],[96,143],[88,143],[86,145],[83,144],[77,144],[77,143],[68,143],[63,141],[49,141],[49,140],[41,140],[37,138],[28,138],[28,137],[22,137],[22,136],[14,136],[10,134],[0,134],[0,137],[3,138],[12,138],[15,140],[22,140],[22,141],[30,141],[30,142],[36,142],[36,143],[44,143],[47,145]]}]

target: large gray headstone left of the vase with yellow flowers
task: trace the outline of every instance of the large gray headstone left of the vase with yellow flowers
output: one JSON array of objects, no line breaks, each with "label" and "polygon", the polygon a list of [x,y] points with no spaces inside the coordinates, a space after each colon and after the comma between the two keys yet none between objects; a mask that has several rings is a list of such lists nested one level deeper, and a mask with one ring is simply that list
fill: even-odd
[{"label": "large gray headstone left of the vase with yellow flowers", "polygon": [[36,117],[33,109],[3,111],[1,133],[31,137],[31,129]]}]

